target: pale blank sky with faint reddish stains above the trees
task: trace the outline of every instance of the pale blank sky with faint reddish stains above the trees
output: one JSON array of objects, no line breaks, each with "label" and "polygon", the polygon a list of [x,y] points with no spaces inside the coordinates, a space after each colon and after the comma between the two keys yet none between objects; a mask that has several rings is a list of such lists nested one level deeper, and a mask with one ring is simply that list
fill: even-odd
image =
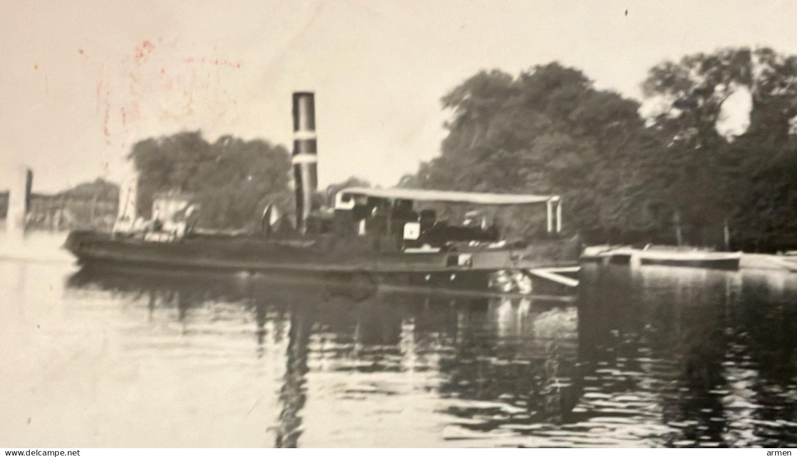
[{"label": "pale blank sky with faint reddish stains above the trees", "polygon": [[654,64],[728,45],[797,53],[797,2],[0,0],[0,188],[20,162],[36,191],[118,182],[132,143],[186,129],[289,146],[296,90],[320,185],[391,186],[480,69],[557,60],[638,98]]}]

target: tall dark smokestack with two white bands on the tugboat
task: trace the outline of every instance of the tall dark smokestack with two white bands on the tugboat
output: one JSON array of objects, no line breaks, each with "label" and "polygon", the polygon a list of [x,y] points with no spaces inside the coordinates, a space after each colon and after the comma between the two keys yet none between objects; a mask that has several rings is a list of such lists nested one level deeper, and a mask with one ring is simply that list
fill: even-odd
[{"label": "tall dark smokestack with two white bands on the tugboat", "polygon": [[293,182],[296,185],[296,227],[307,232],[312,196],[318,188],[316,101],[312,92],[293,92]]}]

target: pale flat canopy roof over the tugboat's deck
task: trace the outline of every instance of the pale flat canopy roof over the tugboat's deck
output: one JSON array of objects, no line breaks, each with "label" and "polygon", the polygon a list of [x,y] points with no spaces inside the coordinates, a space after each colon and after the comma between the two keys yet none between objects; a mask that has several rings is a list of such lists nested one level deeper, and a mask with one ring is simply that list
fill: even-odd
[{"label": "pale flat canopy roof over the tugboat's deck", "polygon": [[368,187],[347,187],[338,192],[344,195],[387,198],[392,200],[440,201],[450,203],[470,203],[473,205],[528,205],[559,201],[558,195],[529,195],[516,193],[454,192],[450,190],[426,189],[371,189]]}]

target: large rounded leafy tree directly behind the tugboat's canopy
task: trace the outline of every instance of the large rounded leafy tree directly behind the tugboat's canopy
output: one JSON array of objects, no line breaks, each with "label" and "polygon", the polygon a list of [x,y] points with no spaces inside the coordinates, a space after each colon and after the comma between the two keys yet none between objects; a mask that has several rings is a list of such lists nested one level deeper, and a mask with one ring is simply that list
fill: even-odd
[{"label": "large rounded leafy tree directly behind the tugboat's canopy", "polygon": [[[596,90],[582,72],[554,62],[516,77],[479,72],[442,104],[452,111],[442,153],[403,186],[556,193],[593,241],[632,238],[659,223],[646,161],[660,145],[634,100]],[[502,219],[528,235],[544,231],[540,213],[512,210]]]}]

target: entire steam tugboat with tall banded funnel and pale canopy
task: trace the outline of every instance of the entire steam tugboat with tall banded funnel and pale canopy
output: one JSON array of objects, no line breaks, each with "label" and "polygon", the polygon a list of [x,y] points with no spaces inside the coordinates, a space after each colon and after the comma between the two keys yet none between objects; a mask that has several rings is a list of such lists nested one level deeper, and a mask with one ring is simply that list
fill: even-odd
[{"label": "entire steam tugboat with tall banded funnel and pale canopy", "polygon": [[[561,237],[562,198],[558,195],[351,187],[336,194],[333,208],[315,208],[312,92],[293,94],[293,131],[296,225],[292,236],[277,236],[272,230],[276,209],[267,208],[261,233],[208,234],[186,229],[184,221],[160,220],[147,229],[128,223],[117,225],[113,232],[72,232],[65,248],[80,264],[288,271],[369,281],[398,278],[409,285],[477,290],[489,289],[496,273],[507,271],[554,283],[559,278],[563,287],[578,283],[568,275],[577,271],[580,246],[575,239]],[[438,220],[434,205],[440,204],[545,205],[547,236],[533,243],[508,243],[494,225],[488,225],[486,218],[480,223],[473,212],[465,214],[461,225]],[[187,200],[185,205],[189,205]],[[178,212],[185,216],[194,209],[183,207]]]}]

